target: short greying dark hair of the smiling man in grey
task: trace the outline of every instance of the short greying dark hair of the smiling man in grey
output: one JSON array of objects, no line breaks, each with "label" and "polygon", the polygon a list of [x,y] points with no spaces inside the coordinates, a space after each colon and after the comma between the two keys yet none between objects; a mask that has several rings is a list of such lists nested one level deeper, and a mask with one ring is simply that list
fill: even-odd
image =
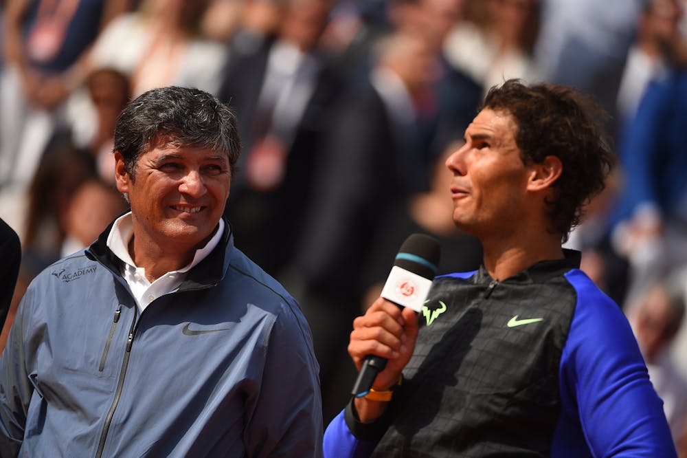
[{"label": "short greying dark hair of the smiling man in grey", "polygon": [[132,180],[139,155],[161,142],[226,153],[234,177],[241,152],[236,115],[205,91],[177,86],[150,89],[120,113],[114,151],[124,157]]}]

